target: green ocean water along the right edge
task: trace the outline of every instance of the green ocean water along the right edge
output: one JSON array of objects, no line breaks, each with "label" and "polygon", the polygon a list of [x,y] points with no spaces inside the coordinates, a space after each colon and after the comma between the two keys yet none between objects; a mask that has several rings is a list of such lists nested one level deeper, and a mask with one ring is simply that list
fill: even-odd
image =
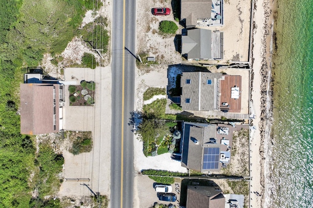
[{"label": "green ocean water along the right edge", "polygon": [[278,0],[268,207],[313,208],[313,0]]}]

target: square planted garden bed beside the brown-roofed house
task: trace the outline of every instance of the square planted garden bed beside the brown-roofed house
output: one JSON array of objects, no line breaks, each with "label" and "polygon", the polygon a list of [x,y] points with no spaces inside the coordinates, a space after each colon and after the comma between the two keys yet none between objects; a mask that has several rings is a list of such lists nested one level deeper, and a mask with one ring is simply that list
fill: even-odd
[{"label": "square planted garden bed beside the brown-roofed house", "polygon": [[95,83],[81,81],[80,85],[69,85],[70,106],[92,106],[94,104]]}]

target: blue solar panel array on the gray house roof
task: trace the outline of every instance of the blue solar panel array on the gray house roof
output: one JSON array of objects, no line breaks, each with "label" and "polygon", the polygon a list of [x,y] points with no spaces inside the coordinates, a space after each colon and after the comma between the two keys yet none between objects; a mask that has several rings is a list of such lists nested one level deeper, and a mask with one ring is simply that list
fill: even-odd
[{"label": "blue solar panel array on the gray house roof", "polygon": [[202,169],[218,169],[220,148],[204,148]]}]

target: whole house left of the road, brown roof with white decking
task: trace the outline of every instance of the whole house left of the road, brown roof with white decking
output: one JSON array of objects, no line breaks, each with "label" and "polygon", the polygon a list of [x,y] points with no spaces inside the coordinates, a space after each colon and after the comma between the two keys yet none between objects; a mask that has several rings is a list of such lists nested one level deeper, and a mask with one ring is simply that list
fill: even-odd
[{"label": "whole house left of the road, brown roof with white decking", "polygon": [[[39,70],[39,72],[37,72]],[[37,69],[20,85],[21,133],[43,134],[62,129],[64,85]]]}]

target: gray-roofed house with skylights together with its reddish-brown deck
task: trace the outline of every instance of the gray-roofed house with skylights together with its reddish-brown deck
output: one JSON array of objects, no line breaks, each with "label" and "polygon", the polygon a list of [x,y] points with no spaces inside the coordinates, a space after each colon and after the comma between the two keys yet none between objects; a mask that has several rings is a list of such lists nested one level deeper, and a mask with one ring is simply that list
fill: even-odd
[{"label": "gray-roofed house with skylights together with its reddish-brown deck", "polygon": [[183,111],[241,113],[241,76],[183,72],[180,87]]}]

